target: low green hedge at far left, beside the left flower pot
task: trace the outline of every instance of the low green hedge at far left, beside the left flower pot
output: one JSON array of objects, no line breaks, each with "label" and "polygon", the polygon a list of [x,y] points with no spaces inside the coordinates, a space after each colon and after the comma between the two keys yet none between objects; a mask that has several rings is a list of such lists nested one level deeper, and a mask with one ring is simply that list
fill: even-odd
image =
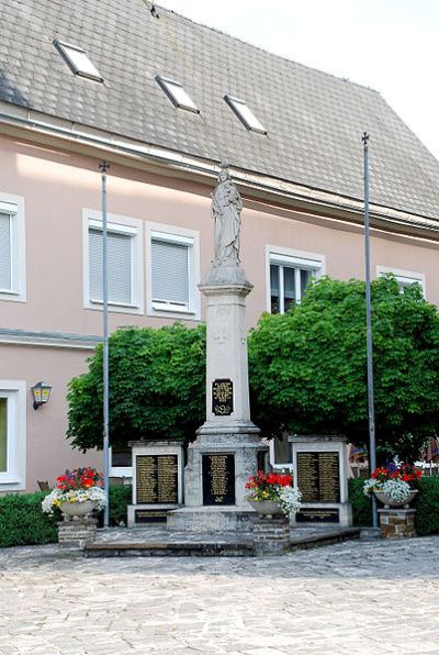
[{"label": "low green hedge at far left, beside the left flower pot", "polygon": [[57,518],[43,513],[45,492],[0,497],[0,546],[52,544],[58,541]]}]

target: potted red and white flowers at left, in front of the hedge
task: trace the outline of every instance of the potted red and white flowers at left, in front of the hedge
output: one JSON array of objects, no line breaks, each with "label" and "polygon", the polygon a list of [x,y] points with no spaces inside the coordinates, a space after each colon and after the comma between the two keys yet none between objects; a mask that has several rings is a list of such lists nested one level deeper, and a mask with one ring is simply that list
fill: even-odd
[{"label": "potted red and white flowers at left, in front of the hedge", "polygon": [[43,511],[53,514],[59,508],[65,517],[87,517],[105,507],[103,477],[95,468],[82,467],[66,470],[56,479],[56,487],[42,502]]}]

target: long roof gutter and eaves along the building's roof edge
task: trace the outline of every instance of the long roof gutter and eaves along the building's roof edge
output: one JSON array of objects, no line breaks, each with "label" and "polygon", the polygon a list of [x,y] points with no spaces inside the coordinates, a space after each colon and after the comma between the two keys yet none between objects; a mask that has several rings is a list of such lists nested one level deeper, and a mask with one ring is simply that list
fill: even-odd
[{"label": "long roof gutter and eaves along the building's roof edge", "polygon": [[[153,171],[158,171],[161,175],[189,177],[202,184],[210,184],[212,178],[217,176],[218,166],[211,159],[180,154],[160,146],[145,145],[142,142],[112,133],[102,132],[102,135],[99,135],[98,130],[91,130],[85,125],[77,126],[70,121],[53,119],[53,116],[32,112],[26,108],[12,106],[16,110],[16,113],[13,114],[2,111],[5,106],[11,107],[9,103],[0,102],[0,132],[4,134],[22,136],[24,132],[31,141],[47,144],[52,140],[53,143],[49,145],[54,146],[59,146],[61,140],[66,149],[94,157],[106,157],[125,166],[127,159],[132,165],[136,163],[136,166],[140,168],[145,168],[145,164],[147,164],[149,169],[153,167]],[[32,118],[33,114],[45,120]],[[50,119],[52,122],[49,122]],[[54,120],[69,125],[69,127],[54,124]],[[363,202],[361,200],[295,185],[266,175],[248,173],[236,167],[233,167],[233,177],[249,198],[272,200],[277,203],[281,200],[285,207],[294,204],[294,208],[314,214],[329,214],[330,218],[353,223],[362,222]],[[316,211],[316,206],[320,211]],[[405,233],[439,240],[439,221],[435,219],[378,204],[370,206],[370,218],[371,224],[381,230],[401,231],[403,227]],[[428,235],[425,234],[426,230]]]}]

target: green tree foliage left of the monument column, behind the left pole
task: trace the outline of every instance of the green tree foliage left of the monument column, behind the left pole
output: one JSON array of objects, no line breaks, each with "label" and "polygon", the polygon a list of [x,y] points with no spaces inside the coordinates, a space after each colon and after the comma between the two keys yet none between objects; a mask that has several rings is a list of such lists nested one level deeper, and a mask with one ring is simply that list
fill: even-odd
[{"label": "green tree foliage left of the monument column, behind the left pole", "polygon": [[[71,444],[102,447],[102,345],[69,384]],[[205,329],[124,328],[109,340],[110,443],[194,438],[205,418]]]}]

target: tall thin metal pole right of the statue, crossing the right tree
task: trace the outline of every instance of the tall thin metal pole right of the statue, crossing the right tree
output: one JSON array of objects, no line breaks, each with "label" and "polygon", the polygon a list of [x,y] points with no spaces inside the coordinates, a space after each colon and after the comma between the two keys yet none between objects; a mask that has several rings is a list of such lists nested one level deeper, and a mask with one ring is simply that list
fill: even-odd
[{"label": "tall thin metal pole right of the statue, crossing the right tree", "polygon": [[[362,136],[364,154],[364,266],[365,266],[365,326],[368,353],[368,407],[369,407],[369,465],[371,473],[376,468],[375,444],[375,410],[373,401],[373,345],[372,345],[372,312],[370,286],[370,244],[369,244],[369,134]],[[378,528],[376,499],[372,493],[372,521]]]}]

